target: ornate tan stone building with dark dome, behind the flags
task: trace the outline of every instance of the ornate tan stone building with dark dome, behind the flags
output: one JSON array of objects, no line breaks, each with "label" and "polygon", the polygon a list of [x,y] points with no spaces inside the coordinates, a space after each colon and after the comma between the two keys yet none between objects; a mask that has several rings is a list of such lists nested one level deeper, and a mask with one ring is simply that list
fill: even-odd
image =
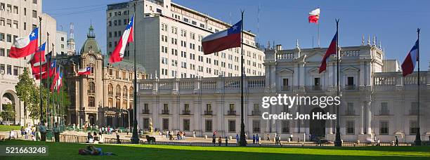
[{"label": "ornate tan stone building with dark dome, behind the flags", "polygon": [[[66,124],[82,126],[128,127],[133,113],[133,63],[109,63],[96,41],[93,26],[79,53],[58,55],[65,73],[65,91],[71,102]],[[91,67],[91,74],[78,75],[78,70]],[[145,69],[138,65],[138,79],[146,79]]]}]

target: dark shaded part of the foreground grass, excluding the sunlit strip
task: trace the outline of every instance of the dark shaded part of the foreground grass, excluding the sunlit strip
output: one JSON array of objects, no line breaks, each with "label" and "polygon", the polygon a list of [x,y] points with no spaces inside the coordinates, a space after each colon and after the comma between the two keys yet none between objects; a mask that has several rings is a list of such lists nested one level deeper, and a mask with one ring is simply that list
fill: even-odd
[{"label": "dark shaded part of the foreground grass, excluding the sunlit strip", "polygon": [[[311,147],[309,153],[266,153],[266,152],[242,152],[242,151],[226,151],[228,147],[220,147],[223,151],[214,151],[216,147],[207,147],[208,150],[190,150],[188,147],[185,149],[165,149],[156,145],[95,145],[101,147],[103,152],[113,152],[117,156],[81,156],[77,154],[78,149],[83,149],[86,144],[75,144],[75,143],[54,143],[54,142],[34,142],[24,140],[9,140],[6,142],[0,142],[0,145],[48,145],[49,156],[8,156],[6,159],[429,159],[429,157],[418,157],[418,156],[405,156],[392,154],[391,156],[347,156],[347,155],[315,155],[312,149],[344,149],[344,148],[333,148],[333,147]],[[166,146],[172,147],[172,146]],[[173,146],[174,147],[174,146]],[[176,146],[180,147],[180,146]],[[189,147],[193,148],[193,147]],[[259,149],[252,147],[253,149]],[[356,147],[357,148],[357,147]],[[400,148],[400,147],[399,147]],[[231,147],[230,149],[234,149]],[[247,148],[244,148],[244,150]],[[249,148],[251,149],[251,148]],[[264,147],[261,149],[278,149]],[[282,149],[282,148],[279,148]],[[291,149],[291,148],[289,148]],[[308,148],[301,148],[308,149]],[[4,159],[1,158],[0,159]]]}]

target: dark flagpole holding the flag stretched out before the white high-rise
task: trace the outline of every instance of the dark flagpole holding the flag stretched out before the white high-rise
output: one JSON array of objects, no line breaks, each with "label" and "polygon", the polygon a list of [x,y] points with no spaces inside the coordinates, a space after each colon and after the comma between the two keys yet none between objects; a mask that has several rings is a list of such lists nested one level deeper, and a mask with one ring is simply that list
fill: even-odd
[{"label": "dark flagpole holding the flag stretched out before the white high-rise", "polygon": [[243,72],[244,72],[244,68],[243,68],[243,13],[245,11],[241,11],[242,12],[242,26],[240,27],[241,31],[240,31],[240,140],[239,140],[239,145],[240,146],[246,146],[247,145],[247,140],[245,138],[245,123],[243,121]]}]

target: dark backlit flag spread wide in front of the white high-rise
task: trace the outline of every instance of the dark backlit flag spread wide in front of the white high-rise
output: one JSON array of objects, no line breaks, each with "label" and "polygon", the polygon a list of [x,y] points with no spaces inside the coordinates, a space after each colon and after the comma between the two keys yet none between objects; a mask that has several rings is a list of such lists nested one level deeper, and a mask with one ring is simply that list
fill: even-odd
[{"label": "dark backlit flag spread wide in front of the white high-rise", "polygon": [[226,30],[205,36],[202,39],[203,53],[207,55],[228,48],[240,47],[242,43],[240,37],[241,32],[242,20]]}]

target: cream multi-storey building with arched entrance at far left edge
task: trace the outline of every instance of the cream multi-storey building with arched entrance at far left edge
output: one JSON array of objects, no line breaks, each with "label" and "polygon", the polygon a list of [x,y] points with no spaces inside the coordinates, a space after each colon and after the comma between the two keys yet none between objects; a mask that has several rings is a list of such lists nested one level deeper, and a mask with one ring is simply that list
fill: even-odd
[{"label": "cream multi-storey building with arched entrance at far left edge", "polygon": [[[50,36],[50,44],[56,43],[56,20],[46,13],[42,13],[42,1],[0,1],[0,110],[2,105],[11,103],[15,109],[15,124],[25,122],[24,105],[20,102],[15,91],[18,75],[22,74],[31,55],[26,58],[9,58],[13,41],[17,37],[27,36],[32,29],[39,27],[39,17],[42,18],[41,42]],[[51,49],[50,49],[51,50]],[[28,113],[27,113],[28,114]]]}]

